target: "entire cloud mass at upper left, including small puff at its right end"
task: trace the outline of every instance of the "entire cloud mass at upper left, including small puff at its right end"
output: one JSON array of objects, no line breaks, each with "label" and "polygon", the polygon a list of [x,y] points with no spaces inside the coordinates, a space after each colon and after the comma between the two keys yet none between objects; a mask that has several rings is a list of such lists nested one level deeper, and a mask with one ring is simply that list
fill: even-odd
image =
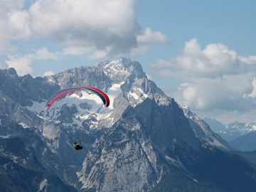
[{"label": "entire cloud mass at upper left, including small puff at its right end", "polygon": [[136,0],[36,0],[28,10],[24,2],[1,3],[0,51],[10,39],[39,37],[65,46],[65,53],[100,58],[141,53],[146,49],[138,47],[166,42],[163,33],[139,26]]}]

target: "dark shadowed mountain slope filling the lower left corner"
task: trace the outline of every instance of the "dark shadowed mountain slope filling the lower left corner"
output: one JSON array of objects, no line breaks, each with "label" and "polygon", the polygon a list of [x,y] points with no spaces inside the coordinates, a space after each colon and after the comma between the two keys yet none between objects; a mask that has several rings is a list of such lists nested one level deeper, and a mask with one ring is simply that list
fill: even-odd
[{"label": "dark shadowed mountain slope filling the lower left corner", "polygon": [[25,135],[36,137],[33,129],[24,130],[6,115],[0,116],[0,122],[1,191],[76,191],[50,174],[36,159],[34,149],[22,141]]}]

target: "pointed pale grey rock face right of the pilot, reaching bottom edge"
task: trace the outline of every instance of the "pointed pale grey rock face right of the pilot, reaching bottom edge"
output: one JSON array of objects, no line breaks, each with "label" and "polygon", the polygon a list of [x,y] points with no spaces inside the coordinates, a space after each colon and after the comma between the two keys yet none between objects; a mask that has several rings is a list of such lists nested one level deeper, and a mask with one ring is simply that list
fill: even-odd
[{"label": "pointed pale grey rock face right of the pilot, reaching bottom edge", "polygon": [[124,117],[92,146],[80,171],[83,188],[149,191],[156,184],[161,162],[133,112],[127,109]]}]

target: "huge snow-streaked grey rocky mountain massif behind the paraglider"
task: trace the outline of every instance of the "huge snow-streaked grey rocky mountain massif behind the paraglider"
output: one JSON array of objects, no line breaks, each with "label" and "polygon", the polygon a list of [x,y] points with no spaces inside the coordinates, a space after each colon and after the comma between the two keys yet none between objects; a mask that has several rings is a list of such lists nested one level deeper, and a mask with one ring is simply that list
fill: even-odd
[{"label": "huge snow-streaked grey rocky mountain massif behind the paraglider", "polygon": [[[23,169],[24,174],[35,174],[32,191],[72,191],[73,187],[77,191],[157,191],[169,179],[174,182],[174,177],[179,191],[190,191],[184,188],[186,183],[196,191],[230,190],[231,184],[222,186],[215,174],[204,179],[207,171],[197,171],[208,170],[203,165],[212,163],[209,156],[218,164],[222,159],[238,159],[237,164],[227,166],[237,170],[233,178],[241,178],[233,186],[256,185],[250,177],[255,169],[230,156],[228,144],[149,80],[136,61],[107,60],[44,78],[18,77],[10,68],[0,71],[0,82],[0,141],[14,139],[10,141],[23,146],[17,146],[22,154],[2,146],[3,173]],[[45,110],[46,100],[54,92],[80,85],[105,90],[110,107],[102,106],[91,92],[82,91]],[[75,151],[74,141],[82,142],[83,150]],[[9,163],[11,166],[6,165]],[[247,177],[238,174],[241,164],[250,170]],[[222,174],[222,169],[216,170]],[[31,182],[29,176],[26,182]]]}]

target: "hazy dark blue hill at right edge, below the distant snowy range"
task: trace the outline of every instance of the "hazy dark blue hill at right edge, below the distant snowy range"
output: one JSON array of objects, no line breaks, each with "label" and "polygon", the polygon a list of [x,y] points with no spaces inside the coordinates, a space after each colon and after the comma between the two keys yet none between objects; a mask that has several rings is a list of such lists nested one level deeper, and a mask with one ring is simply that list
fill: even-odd
[{"label": "hazy dark blue hill at right edge, below the distant snowy range", "polygon": [[230,145],[240,151],[256,150],[256,132],[250,132],[230,142]]}]

